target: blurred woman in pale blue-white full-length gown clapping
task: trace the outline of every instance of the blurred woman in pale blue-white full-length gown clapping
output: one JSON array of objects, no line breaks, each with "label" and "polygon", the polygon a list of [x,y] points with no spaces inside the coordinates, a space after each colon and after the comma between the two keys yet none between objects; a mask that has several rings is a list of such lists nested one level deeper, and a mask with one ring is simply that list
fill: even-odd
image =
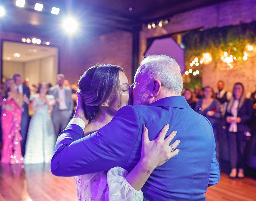
[{"label": "blurred woman in pale blue-white full-length gown clapping", "polygon": [[51,162],[56,135],[53,128],[51,110],[55,104],[54,97],[47,95],[46,83],[40,83],[38,93],[32,99],[32,110],[35,111],[28,127],[24,163]]}]

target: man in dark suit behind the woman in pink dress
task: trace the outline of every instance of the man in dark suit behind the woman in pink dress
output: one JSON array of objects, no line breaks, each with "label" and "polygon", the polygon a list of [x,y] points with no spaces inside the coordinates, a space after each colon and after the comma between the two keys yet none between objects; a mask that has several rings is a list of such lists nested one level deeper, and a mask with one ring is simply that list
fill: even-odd
[{"label": "man in dark suit behind the woman in pink dress", "polygon": [[25,147],[28,133],[29,115],[28,115],[28,104],[30,103],[30,90],[27,85],[22,84],[22,77],[20,74],[14,74],[13,79],[15,82],[15,89],[23,94],[23,109],[20,123],[20,134],[22,136],[21,141],[21,154],[25,155]]}]

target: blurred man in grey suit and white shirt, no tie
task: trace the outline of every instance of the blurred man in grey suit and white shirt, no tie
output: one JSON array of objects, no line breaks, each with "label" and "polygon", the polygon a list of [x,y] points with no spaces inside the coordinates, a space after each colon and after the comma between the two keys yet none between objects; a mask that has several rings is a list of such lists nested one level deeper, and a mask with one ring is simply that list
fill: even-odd
[{"label": "blurred man in grey suit and white shirt, no tie", "polygon": [[72,90],[64,86],[64,77],[63,74],[58,74],[57,85],[50,88],[49,91],[49,95],[53,95],[56,100],[52,110],[52,121],[56,135],[68,125],[74,109]]}]

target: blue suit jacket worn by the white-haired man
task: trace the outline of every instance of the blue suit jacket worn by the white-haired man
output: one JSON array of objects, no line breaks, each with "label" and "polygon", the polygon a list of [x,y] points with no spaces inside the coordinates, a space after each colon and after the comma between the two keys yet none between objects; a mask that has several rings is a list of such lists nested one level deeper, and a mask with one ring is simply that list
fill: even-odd
[{"label": "blue suit jacket worn by the white-haired man", "polygon": [[144,200],[205,200],[204,193],[220,179],[210,122],[197,114],[184,97],[166,97],[149,106],[125,106],[99,131],[83,137],[69,125],[57,140],[51,170],[56,176],[76,176],[120,166],[128,171],[140,160],[142,127],[149,139],[163,126],[178,133],[180,153],[157,167],[142,188]]}]

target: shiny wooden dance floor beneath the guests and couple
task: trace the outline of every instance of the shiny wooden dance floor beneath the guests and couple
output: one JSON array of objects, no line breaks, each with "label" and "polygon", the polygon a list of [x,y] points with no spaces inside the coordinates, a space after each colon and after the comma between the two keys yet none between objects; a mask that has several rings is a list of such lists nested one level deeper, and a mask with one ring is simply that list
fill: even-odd
[{"label": "shiny wooden dance floor beneath the guests and couple", "polygon": [[[49,164],[9,165],[0,169],[0,200],[2,201],[75,201],[73,177],[53,176]],[[218,185],[208,188],[207,201],[255,201],[256,180],[230,180],[224,173]]]}]

